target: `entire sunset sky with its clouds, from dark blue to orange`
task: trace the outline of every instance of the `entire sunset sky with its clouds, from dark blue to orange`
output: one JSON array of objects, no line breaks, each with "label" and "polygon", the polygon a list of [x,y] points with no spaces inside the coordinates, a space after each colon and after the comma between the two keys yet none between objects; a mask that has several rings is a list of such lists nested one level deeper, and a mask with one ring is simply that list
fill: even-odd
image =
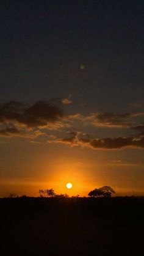
[{"label": "entire sunset sky with its clouds, from dark blue to orange", "polygon": [[0,197],[144,195],[143,1],[0,10]]}]

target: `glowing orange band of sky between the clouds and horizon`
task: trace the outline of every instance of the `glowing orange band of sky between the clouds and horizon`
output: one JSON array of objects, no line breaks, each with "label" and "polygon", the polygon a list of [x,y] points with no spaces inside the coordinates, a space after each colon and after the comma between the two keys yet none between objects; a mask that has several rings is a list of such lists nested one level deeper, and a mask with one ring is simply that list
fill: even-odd
[{"label": "glowing orange band of sky between the clouds and horizon", "polygon": [[[104,185],[112,186],[118,194],[144,194],[144,167],[139,161],[143,150],[92,150],[31,144],[18,138],[7,140],[2,147],[0,196],[10,192],[38,196],[38,190],[45,188],[58,194],[87,196],[90,190]],[[132,155],[139,156],[137,161]],[[67,182],[73,183],[72,189],[66,188]]]}]

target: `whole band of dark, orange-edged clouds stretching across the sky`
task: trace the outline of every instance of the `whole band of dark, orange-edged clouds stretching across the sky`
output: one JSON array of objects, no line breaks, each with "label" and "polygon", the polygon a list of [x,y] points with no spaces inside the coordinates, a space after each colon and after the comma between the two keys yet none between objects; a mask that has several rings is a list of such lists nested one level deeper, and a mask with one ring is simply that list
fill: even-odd
[{"label": "whole band of dark, orange-edged clouds stretching across the sky", "polygon": [[[64,145],[81,145],[93,149],[122,149],[122,148],[144,148],[144,125],[134,120],[142,117],[143,112],[115,114],[114,112],[92,113],[82,115],[81,113],[68,113],[63,111],[63,105],[70,104],[70,98],[54,98],[48,102],[37,101],[31,106],[23,103],[10,101],[0,104],[0,136],[2,137],[37,137],[48,136],[43,129],[59,131],[63,129],[65,135],[57,136],[51,134],[49,143]],[[127,136],[102,137],[92,136],[81,129],[77,131],[74,125],[81,120],[81,129],[87,128],[87,124],[107,128],[126,128]],[[74,128],[74,131],[68,131]],[[86,130],[85,128],[85,130]],[[41,131],[42,130],[42,131]],[[134,134],[132,134],[132,131]]]}]

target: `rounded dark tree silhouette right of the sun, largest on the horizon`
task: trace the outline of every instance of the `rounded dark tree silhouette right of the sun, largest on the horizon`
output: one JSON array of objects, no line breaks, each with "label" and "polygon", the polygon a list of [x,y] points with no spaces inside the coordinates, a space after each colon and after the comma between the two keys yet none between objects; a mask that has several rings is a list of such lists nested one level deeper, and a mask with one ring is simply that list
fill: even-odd
[{"label": "rounded dark tree silhouette right of the sun, largest on the horizon", "polygon": [[103,186],[101,188],[95,188],[88,193],[90,197],[111,197],[115,191],[110,186]]}]

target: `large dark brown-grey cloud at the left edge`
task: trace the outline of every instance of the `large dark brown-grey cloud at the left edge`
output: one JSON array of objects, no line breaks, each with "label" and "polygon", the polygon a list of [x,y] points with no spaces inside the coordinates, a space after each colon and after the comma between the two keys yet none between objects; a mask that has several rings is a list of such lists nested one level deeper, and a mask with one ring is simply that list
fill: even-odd
[{"label": "large dark brown-grey cloud at the left edge", "polygon": [[18,122],[27,127],[46,126],[64,119],[62,109],[54,103],[38,101],[24,107],[22,103],[10,101],[0,105],[0,122]]}]

